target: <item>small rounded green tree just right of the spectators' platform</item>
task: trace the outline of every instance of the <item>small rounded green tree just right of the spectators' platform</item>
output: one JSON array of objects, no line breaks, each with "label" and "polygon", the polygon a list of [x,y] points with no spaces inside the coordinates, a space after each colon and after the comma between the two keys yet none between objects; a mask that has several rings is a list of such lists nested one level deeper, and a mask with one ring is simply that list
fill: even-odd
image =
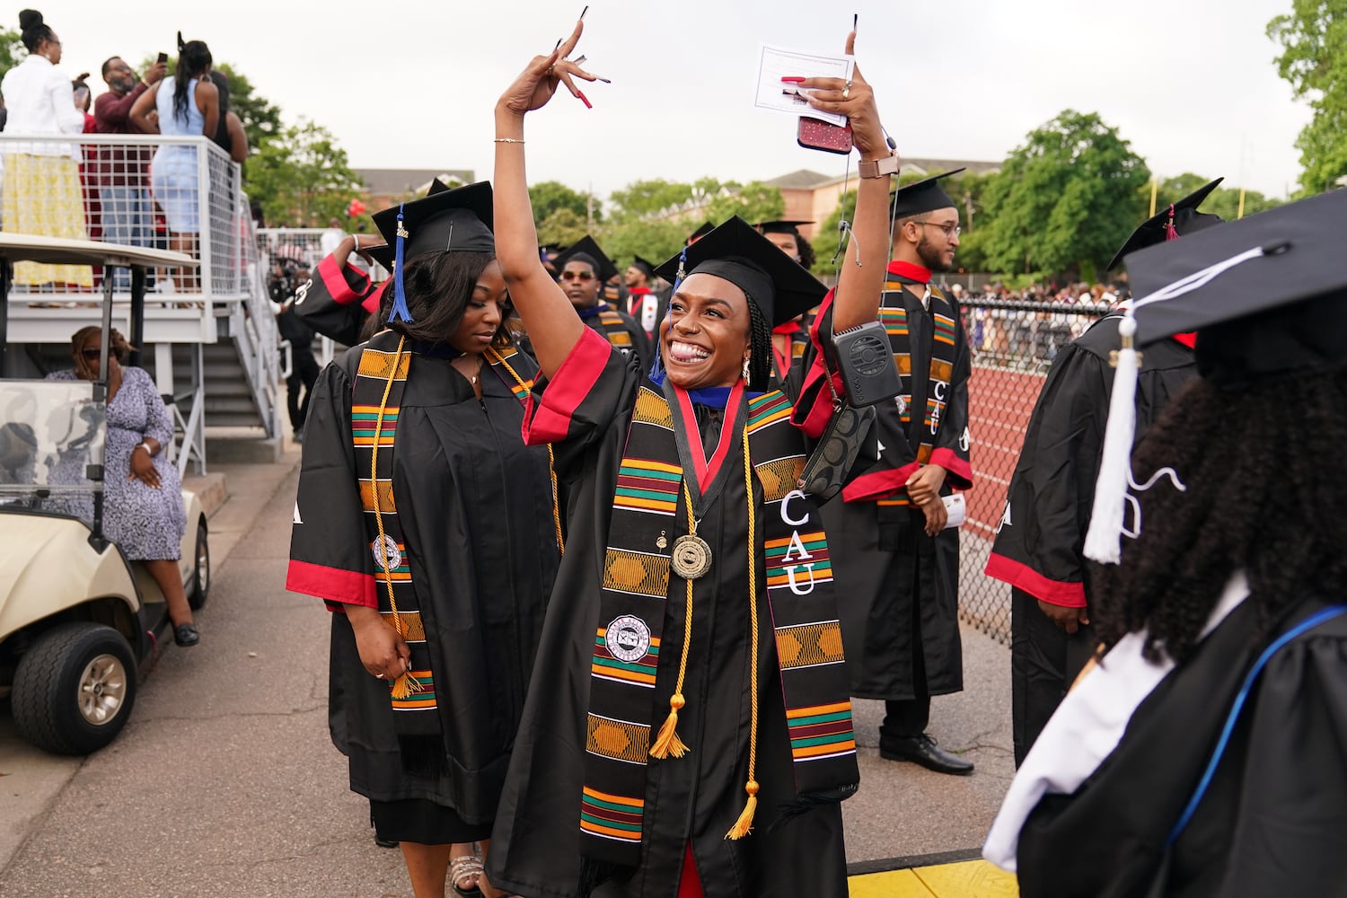
[{"label": "small rounded green tree just right of the spectators' platform", "polygon": [[362,187],[331,132],[306,118],[248,162],[249,193],[272,226],[317,228],[341,218]]}]

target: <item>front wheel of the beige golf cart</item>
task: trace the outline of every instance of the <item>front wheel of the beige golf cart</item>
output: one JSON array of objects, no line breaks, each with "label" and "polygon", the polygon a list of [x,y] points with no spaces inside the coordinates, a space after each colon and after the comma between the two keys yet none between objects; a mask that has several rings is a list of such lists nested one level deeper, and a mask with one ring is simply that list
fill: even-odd
[{"label": "front wheel of the beige golf cart", "polygon": [[19,658],[9,693],[19,735],[55,754],[89,754],[117,738],[136,703],[125,637],[101,623],[62,623]]}]

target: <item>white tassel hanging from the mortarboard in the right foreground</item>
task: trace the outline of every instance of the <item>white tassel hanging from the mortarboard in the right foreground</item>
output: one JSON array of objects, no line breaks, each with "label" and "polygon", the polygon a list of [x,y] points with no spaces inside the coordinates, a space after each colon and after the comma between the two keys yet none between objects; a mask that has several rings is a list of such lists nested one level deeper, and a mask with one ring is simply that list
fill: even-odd
[{"label": "white tassel hanging from the mortarboard in the right foreground", "polygon": [[1118,350],[1113,373],[1103,458],[1099,460],[1094,512],[1086,533],[1086,557],[1100,564],[1117,564],[1122,559],[1123,514],[1127,483],[1131,481],[1131,443],[1137,434],[1137,370],[1141,368],[1133,345],[1136,333],[1137,319],[1129,312],[1118,322],[1122,349]]}]

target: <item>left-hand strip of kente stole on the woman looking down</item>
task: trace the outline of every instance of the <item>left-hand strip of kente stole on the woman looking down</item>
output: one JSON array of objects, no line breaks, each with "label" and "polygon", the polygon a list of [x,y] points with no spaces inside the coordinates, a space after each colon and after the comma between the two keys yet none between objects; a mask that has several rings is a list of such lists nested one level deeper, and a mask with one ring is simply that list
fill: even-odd
[{"label": "left-hand strip of kente stole on the woman looking down", "polygon": [[[397,339],[392,333],[379,334],[361,351],[360,369],[352,389],[350,431],[356,446],[360,498],[365,510],[365,537],[369,540],[368,551],[374,559],[379,613],[403,634],[412,656],[409,673],[415,685],[411,693],[405,697],[392,697],[393,684],[388,684],[395,711],[393,727],[397,731],[404,767],[411,762],[412,767],[434,769],[432,758],[442,754],[439,715],[435,712],[435,677],[431,672],[420,605],[412,588],[411,556],[393,501],[393,444],[397,439],[397,417],[412,359],[412,353],[405,347],[399,355]],[[370,479],[376,425],[377,470]],[[383,536],[379,532],[379,518],[383,518]],[[389,602],[388,583],[392,583],[396,615]]]}]

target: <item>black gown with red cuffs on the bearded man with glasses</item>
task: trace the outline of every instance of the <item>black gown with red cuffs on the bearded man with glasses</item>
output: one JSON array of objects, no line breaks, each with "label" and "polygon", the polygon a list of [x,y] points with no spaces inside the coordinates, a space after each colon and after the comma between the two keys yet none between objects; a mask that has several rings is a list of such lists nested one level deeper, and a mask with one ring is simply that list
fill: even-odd
[{"label": "black gown with red cuffs on the bearded man with glasses", "polygon": [[[890,273],[889,279],[923,288],[898,275]],[[907,308],[912,370],[917,372],[911,378],[911,405],[924,409],[933,319],[921,307],[920,293],[909,289],[888,291],[882,302],[888,308]],[[828,312],[824,316],[831,318]],[[944,495],[952,486],[967,489],[973,481],[967,442],[970,365],[963,323],[958,320],[950,393],[931,456],[932,463],[947,470]],[[929,537],[925,516],[915,506],[847,498],[858,485],[885,479],[896,493],[919,467],[917,413],[904,424],[896,403],[881,403],[874,409],[876,424],[861,458],[878,460],[867,466],[862,462],[858,477],[823,506],[823,524],[834,536],[830,547],[851,695],[902,700],[959,692],[959,530],[950,528]]]}]

